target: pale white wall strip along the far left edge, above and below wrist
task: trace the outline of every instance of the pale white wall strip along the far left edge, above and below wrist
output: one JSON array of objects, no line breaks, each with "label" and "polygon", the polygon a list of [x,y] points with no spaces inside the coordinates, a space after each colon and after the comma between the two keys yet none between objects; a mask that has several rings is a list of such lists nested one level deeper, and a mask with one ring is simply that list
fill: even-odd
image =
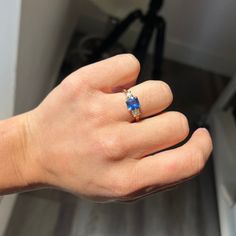
[{"label": "pale white wall strip along the far left edge, above and below wrist", "polygon": [[[19,0],[0,0],[0,119],[13,115],[17,43],[20,20]],[[0,236],[4,234],[16,195],[0,197]]]}]

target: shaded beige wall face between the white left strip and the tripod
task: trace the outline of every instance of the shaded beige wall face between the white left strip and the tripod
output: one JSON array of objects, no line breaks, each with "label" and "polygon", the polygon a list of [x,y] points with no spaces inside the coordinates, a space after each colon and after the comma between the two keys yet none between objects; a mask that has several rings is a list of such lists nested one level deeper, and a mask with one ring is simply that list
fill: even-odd
[{"label": "shaded beige wall face between the white left strip and the tripod", "polygon": [[15,113],[46,96],[77,23],[76,0],[22,0]]}]

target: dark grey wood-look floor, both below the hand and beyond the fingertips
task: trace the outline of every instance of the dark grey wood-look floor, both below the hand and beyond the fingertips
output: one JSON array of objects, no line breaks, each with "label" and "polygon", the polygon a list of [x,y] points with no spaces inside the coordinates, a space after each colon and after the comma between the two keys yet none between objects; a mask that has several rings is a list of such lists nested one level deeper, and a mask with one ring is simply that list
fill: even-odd
[{"label": "dark grey wood-look floor, both below the hand and beyond the fingertips", "polygon": [[[151,79],[151,63],[143,76]],[[225,78],[166,61],[163,80],[194,129],[224,87]],[[204,172],[172,191],[132,204],[96,204],[55,190],[21,194],[5,236],[219,236],[212,161]]]}]

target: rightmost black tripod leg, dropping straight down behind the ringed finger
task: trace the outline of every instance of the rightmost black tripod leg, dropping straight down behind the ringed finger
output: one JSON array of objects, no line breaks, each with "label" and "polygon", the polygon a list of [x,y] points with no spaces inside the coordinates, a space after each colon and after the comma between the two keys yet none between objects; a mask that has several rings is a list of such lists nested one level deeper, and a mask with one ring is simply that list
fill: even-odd
[{"label": "rightmost black tripod leg, dropping straight down behind the ringed finger", "polygon": [[156,21],[156,42],[154,52],[154,69],[153,78],[159,79],[161,76],[161,66],[163,62],[164,47],[165,47],[165,32],[166,23],[162,17],[158,17]]}]

